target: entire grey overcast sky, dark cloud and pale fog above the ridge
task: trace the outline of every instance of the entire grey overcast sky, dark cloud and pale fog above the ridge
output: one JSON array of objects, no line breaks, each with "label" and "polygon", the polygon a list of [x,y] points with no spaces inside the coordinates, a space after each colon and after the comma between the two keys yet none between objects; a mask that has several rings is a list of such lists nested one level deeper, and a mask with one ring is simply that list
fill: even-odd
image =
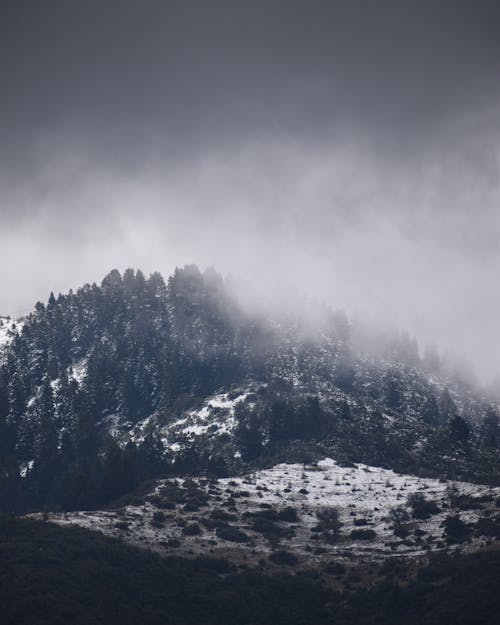
[{"label": "entire grey overcast sky, dark cloud and pale fog above the ridge", "polygon": [[497,0],[2,0],[0,89],[0,314],[196,262],[500,371]]}]

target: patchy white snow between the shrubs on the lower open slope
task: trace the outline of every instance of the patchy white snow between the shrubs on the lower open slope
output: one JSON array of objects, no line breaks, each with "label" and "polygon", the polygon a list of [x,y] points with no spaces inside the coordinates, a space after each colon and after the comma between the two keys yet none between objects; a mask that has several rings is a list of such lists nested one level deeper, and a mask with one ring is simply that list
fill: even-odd
[{"label": "patchy white snow between the shrubs on the lower open slope", "polygon": [[[206,553],[221,550],[225,556],[228,550],[245,552],[245,558],[255,559],[269,554],[273,549],[269,540],[252,525],[252,513],[267,508],[281,510],[292,507],[298,519],[293,523],[281,523],[293,530],[290,536],[280,539],[280,548],[294,551],[302,561],[317,564],[330,561],[364,559],[381,560],[397,555],[408,557],[423,556],[430,551],[442,549],[477,549],[487,539],[471,533],[464,544],[448,545],[444,536],[443,521],[448,515],[459,516],[464,522],[474,524],[480,518],[492,517],[498,513],[495,500],[500,497],[500,488],[489,488],[466,482],[447,482],[423,479],[412,475],[395,473],[389,469],[356,464],[341,466],[331,458],[325,458],[316,465],[279,464],[270,469],[256,471],[242,476],[219,480],[193,478],[208,497],[208,502],[199,510],[186,510],[177,504],[175,510],[164,510],[165,522],[160,527],[152,527],[152,515],[156,508],[150,501],[143,505],[127,506],[118,511],[74,512],[65,515],[51,515],[56,523],[83,525],[98,529],[112,536],[121,536],[137,546],[160,552],[168,547],[168,540],[179,541],[182,553]],[[178,478],[167,482],[157,482],[153,493],[161,494],[162,487],[175,482],[183,488],[184,480]],[[188,487],[186,487],[188,488]],[[191,486],[192,488],[192,486]],[[486,495],[477,509],[466,511],[455,508],[450,493],[479,498]],[[439,510],[426,519],[412,516],[408,497],[421,493],[426,500],[437,504]],[[480,501],[479,499],[476,499]],[[237,520],[231,525],[243,531],[249,542],[235,545],[216,535],[215,530],[203,526],[213,510],[228,509]],[[318,532],[317,513],[324,509],[338,512],[341,527],[335,540],[328,540]],[[408,536],[394,534],[391,510],[403,509],[409,515]],[[186,536],[182,533],[182,523],[199,522],[201,534]],[[126,521],[124,533],[116,527],[117,521]],[[370,529],[375,535],[370,539],[351,536],[353,530]]]}]

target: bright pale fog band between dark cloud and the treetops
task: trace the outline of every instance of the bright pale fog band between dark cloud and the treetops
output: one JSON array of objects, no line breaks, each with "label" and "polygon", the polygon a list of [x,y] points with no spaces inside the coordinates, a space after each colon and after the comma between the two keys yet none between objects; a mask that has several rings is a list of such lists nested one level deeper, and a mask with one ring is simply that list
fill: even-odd
[{"label": "bright pale fog band between dark cloud and the treetops", "polygon": [[258,142],[120,175],[69,154],[8,191],[3,314],[113,267],[197,263],[274,304],[315,296],[494,371],[498,182],[460,158]]}]

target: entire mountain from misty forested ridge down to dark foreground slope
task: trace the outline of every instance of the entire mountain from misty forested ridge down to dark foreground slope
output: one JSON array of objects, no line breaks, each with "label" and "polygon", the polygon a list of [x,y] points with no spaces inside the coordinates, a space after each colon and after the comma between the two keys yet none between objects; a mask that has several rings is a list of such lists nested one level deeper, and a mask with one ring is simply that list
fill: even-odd
[{"label": "entire mountain from misty forested ridge down to dark foreground slope", "polygon": [[494,396],[407,334],[263,310],[187,266],[0,318],[7,623],[495,622]]}]

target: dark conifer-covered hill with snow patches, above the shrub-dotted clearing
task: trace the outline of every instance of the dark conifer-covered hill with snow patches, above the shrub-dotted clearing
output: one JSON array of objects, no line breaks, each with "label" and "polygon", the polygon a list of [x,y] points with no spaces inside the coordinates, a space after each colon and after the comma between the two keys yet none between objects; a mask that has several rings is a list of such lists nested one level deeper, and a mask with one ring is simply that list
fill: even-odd
[{"label": "dark conifer-covered hill with snow patches, above the shrub-dotted clearing", "polygon": [[[167,282],[114,270],[2,323],[3,513],[102,507],[146,479],[311,453],[500,483],[495,398],[407,335],[339,311],[250,313],[191,266]],[[179,425],[208,413],[218,425],[201,434]]]}]

